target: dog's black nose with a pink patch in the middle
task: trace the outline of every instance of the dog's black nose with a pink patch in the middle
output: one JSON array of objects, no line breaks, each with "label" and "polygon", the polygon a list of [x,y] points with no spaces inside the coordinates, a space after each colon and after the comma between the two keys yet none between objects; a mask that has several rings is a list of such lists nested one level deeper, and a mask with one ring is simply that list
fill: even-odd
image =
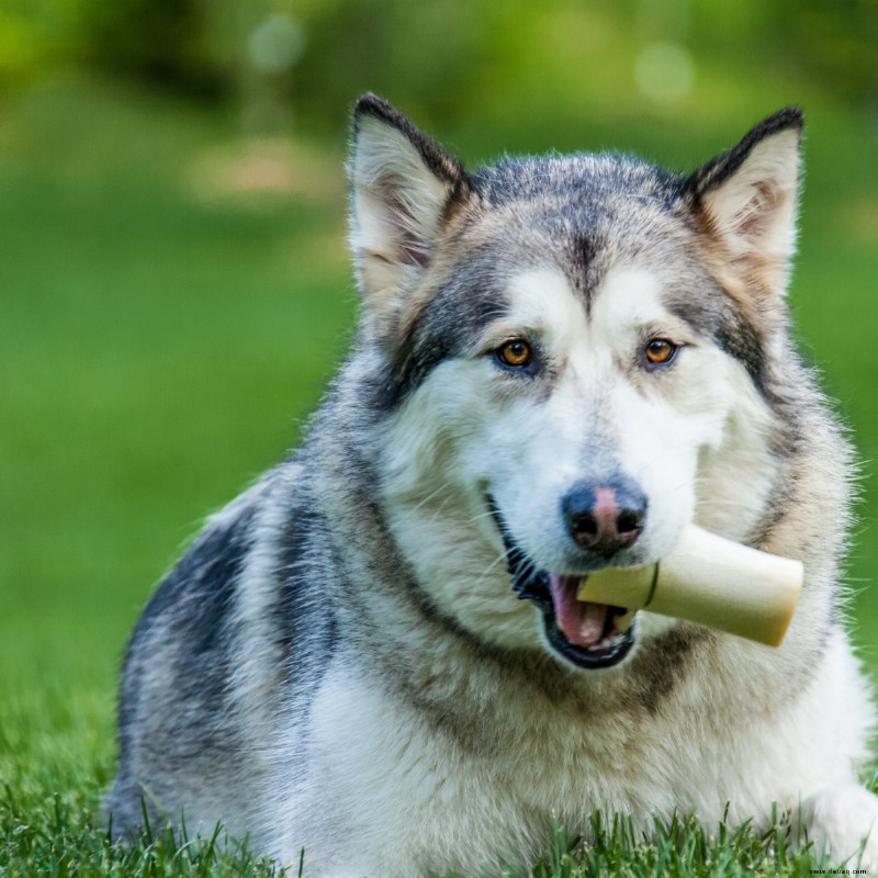
[{"label": "dog's black nose with a pink patch in the middle", "polygon": [[561,500],[561,511],[570,536],[581,549],[609,559],[640,537],[646,495],[623,476],[577,482]]}]

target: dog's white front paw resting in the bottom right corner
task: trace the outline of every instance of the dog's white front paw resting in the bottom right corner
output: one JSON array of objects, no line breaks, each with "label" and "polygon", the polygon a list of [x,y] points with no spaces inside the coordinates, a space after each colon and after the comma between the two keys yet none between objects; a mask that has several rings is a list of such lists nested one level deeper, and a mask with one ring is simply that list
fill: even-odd
[{"label": "dog's white front paw resting in the bottom right corner", "polygon": [[819,854],[878,875],[878,796],[854,784],[824,787],[802,802],[801,817]]}]

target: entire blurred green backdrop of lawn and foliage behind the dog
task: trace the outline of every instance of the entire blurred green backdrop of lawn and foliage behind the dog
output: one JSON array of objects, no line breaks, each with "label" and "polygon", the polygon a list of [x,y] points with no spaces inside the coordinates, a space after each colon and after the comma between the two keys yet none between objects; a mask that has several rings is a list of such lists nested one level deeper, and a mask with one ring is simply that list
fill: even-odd
[{"label": "entire blurred green backdrop of lawn and foliage behind the dog", "polygon": [[104,779],[140,607],[296,441],[351,333],[365,90],[471,166],[687,170],[804,108],[791,304],[863,461],[851,616],[878,675],[878,0],[3,0],[0,755],[49,770],[60,742]]}]

